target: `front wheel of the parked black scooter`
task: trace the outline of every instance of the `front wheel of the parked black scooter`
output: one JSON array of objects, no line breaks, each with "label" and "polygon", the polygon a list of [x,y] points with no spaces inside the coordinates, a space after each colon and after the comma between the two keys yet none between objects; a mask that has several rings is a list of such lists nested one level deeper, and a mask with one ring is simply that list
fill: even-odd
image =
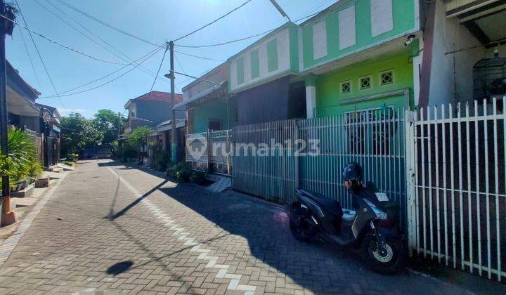
[{"label": "front wheel of the parked black scooter", "polygon": [[363,241],[362,256],[369,268],[385,275],[401,272],[406,264],[406,249],[399,236],[387,235],[380,247],[375,237],[368,235]]}]

